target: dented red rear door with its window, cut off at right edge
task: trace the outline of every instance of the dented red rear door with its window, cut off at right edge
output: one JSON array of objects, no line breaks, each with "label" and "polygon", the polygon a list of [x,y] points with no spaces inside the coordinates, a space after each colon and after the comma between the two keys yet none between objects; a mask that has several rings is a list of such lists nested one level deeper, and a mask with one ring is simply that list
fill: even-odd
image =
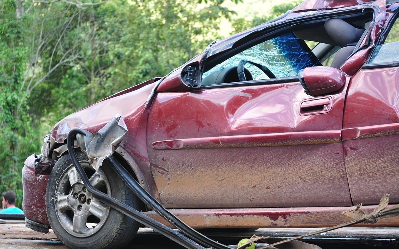
[{"label": "dented red rear door with its window, cut off at right edge", "polygon": [[384,31],[368,63],[353,76],[344,111],[345,165],[354,203],[399,202],[399,21],[387,10]]}]

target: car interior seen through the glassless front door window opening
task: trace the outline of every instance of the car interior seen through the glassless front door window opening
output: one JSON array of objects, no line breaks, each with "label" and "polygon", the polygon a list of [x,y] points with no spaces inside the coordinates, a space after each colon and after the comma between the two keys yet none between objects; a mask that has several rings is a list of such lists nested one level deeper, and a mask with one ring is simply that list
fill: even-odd
[{"label": "car interior seen through the glassless front door window opening", "polygon": [[328,18],[280,34],[205,69],[202,86],[297,76],[306,67],[339,69],[358,49],[372,12]]}]

